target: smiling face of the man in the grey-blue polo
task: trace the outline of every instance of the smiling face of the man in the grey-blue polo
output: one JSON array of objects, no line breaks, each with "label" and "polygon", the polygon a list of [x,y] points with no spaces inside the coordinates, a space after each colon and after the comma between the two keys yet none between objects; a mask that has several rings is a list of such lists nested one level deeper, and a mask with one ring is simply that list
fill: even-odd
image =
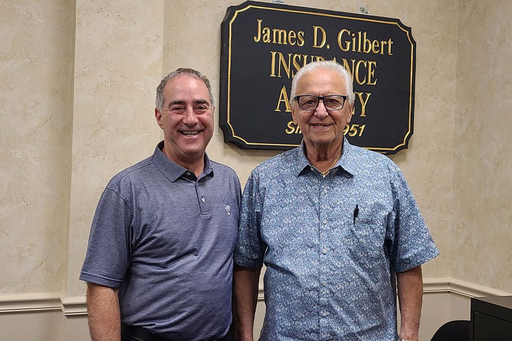
[{"label": "smiling face of the man in the grey-blue polo", "polygon": [[202,80],[186,75],[169,80],[155,117],[164,132],[164,154],[185,167],[202,161],[214,132],[214,107]]}]

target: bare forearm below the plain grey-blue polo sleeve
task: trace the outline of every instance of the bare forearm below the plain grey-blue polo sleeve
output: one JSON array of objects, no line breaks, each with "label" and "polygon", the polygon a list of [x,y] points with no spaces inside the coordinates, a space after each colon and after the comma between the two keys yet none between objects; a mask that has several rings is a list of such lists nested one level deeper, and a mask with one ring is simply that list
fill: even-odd
[{"label": "bare forearm below the plain grey-blue polo sleeve", "polygon": [[92,341],[120,341],[121,317],[116,288],[87,283],[87,311]]}]

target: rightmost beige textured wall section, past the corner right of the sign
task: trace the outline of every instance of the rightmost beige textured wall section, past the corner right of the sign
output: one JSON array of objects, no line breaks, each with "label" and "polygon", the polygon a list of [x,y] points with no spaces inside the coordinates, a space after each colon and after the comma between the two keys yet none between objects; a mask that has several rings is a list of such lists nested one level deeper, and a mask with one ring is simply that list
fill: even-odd
[{"label": "rightmost beige textured wall section, past the corner right of the sign", "polygon": [[[512,3],[461,1],[451,276],[512,292]],[[444,118],[448,115],[443,115]]]}]

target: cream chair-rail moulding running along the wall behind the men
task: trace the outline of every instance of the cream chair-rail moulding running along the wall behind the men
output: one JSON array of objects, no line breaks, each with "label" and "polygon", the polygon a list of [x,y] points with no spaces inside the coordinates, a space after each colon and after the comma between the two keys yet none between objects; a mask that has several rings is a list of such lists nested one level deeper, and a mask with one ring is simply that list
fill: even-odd
[{"label": "cream chair-rail moulding running along the wall behind the men", "polygon": [[[508,296],[512,293],[449,277],[423,279],[423,293],[454,293],[465,297],[488,295]],[[259,285],[258,301],[265,300],[263,284]],[[62,311],[66,317],[87,316],[86,298],[65,297],[56,293],[0,295],[0,314],[41,311]]]}]

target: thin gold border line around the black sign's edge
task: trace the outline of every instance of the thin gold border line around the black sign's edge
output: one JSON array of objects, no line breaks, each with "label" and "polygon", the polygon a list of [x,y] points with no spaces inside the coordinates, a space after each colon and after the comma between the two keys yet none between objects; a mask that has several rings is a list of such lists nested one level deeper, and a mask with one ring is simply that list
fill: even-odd
[{"label": "thin gold border line around the black sign's edge", "polygon": [[234,133],[233,126],[231,125],[231,122],[229,121],[229,106],[230,106],[230,92],[231,92],[231,26],[233,24],[234,19],[237,18],[238,13],[244,12],[244,11],[248,10],[249,8],[257,8],[257,9],[281,11],[281,12],[293,12],[293,13],[300,13],[300,14],[313,14],[313,15],[328,16],[328,17],[350,19],[350,20],[379,22],[380,24],[396,25],[400,30],[402,30],[403,32],[406,32],[407,39],[411,43],[411,78],[410,78],[410,87],[409,87],[409,130],[407,131],[406,135],[404,136],[403,142],[399,145],[396,145],[394,148],[379,148],[379,147],[362,147],[362,148],[374,149],[374,150],[396,150],[397,148],[406,145],[407,137],[411,133],[411,108],[412,108],[412,96],[413,96],[413,59],[414,59],[414,44],[411,41],[411,37],[409,36],[408,30],[402,28],[398,24],[398,22],[394,22],[394,21],[384,21],[384,20],[377,20],[377,19],[370,19],[370,18],[356,18],[356,17],[351,17],[351,16],[345,16],[345,15],[336,15],[336,14],[329,14],[329,13],[318,13],[318,12],[300,11],[300,10],[290,10],[290,9],[284,9],[284,8],[273,8],[273,7],[264,7],[264,6],[257,6],[257,5],[248,5],[242,9],[236,10],[234,12],[234,15],[231,18],[231,20],[229,20],[229,50],[228,50],[228,67],[227,67],[227,70],[228,70],[227,71],[227,124],[229,125],[229,128],[231,128],[233,138],[237,138],[237,139],[245,142],[247,145],[283,146],[283,147],[298,147],[299,146],[299,145],[281,144],[281,143],[269,144],[269,143],[248,142],[245,139],[241,138],[240,136],[238,136]]}]

